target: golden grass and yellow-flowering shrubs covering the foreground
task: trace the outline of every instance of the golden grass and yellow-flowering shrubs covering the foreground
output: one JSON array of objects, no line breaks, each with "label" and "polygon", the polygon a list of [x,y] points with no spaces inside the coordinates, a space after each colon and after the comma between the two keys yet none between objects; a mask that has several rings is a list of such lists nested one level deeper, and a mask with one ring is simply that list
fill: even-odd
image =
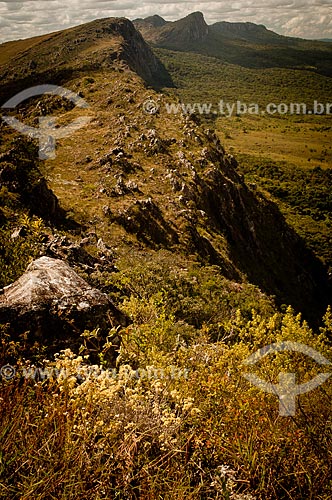
[{"label": "golden grass and yellow-flowering shrubs covering the foreground", "polygon": [[330,499],[331,382],[280,416],[278,397],[243,375],[277,383],[295,372],[304,383],[328,371],[300,353],[244,361],[285,340],[331,360],[331,312],[314,334],[215,269],[156,262],[122,264],[109,283],[132,319],[116,369],[70,351],[34,365],[24,339],[2,332],[1,364],[20,361],[2,381],[0,498]]}]

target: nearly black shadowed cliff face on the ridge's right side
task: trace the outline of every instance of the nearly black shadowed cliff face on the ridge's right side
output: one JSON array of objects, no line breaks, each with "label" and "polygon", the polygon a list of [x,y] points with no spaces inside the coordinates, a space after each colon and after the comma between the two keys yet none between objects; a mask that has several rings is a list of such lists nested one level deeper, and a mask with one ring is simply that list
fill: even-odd
[{"label": "nearly black shadowed cliff face on the ridge's right side", "polygon": [[276,205],[234,174],[230,179],[218,168],[206,169],[195,186],[197,205],[208,214],[209,226],[226,235],[232,262],[250,282],[276,295],[279,303],[303,311],[309,320],[317,311],[323,315],[329,295],[324,266]]}]

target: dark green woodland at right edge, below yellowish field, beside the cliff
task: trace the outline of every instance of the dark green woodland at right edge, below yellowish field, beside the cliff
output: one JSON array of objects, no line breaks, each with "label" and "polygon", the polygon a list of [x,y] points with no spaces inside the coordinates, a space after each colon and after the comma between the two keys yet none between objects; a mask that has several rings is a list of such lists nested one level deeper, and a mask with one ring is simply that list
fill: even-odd
[{"label": "dark green woodland at right edge, below yellowish field, beside the cliff", "polygon": [[301,169],[249,155],[237,158],[246,180],[271,193],[291,225],[332,269],[332,169]]}]

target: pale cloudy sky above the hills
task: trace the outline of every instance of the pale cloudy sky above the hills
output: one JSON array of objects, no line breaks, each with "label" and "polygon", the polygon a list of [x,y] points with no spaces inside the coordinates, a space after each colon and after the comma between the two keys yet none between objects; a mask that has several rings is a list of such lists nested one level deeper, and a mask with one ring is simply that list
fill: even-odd
[{"label": "pale cloudy sky above the hills", "polygon": [[82,24],[102,17],[159,14],[169,21],[201,11],[206,22],[251,21],[290,36],[332,38],[332,0],[0,0],[0,41]]}]

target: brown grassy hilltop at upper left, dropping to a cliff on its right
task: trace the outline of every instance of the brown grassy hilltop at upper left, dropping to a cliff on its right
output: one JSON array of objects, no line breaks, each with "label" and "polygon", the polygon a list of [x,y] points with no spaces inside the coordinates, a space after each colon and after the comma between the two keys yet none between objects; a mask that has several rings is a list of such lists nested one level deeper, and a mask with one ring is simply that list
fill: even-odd
[{"label": "brown grassy hilltop at upper left, dropping to a cliff on its right", "polygon": [[61,82],[80,72],[126,65],[150,85],[171,85],[163,65],[127,19],[100,19],[83,26],[3,44],[1,99],[41,80]]}]

